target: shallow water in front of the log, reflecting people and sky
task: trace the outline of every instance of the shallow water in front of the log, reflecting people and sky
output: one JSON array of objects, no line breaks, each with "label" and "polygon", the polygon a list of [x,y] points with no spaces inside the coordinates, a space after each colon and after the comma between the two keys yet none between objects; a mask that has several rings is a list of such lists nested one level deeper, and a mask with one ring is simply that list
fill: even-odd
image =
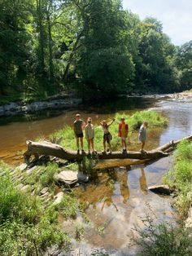
[{"label": "shallow water in front of the log, reflecting people and sky", "polygon": [[[89,184],[85,190],[76,188],[79,201],[86,202],[85,214],[91,222],[85,228],[84,241],[76,245],[81,254],[90,255],[97,247],[107,249],[109,254],[116,249],[114,255],[137,255],[135,249],[129,254],[128,244],[135,225],[144,227],[142,219],[148,210],[155,213],[157,222],[175,218],[169,201],[146,191],[147,185],[160,182],[170,165],[169,159],[164,158],[134,170],[123,167],[103,170],[98,173],[97,185]],[[102,233],[101,228],[104,228]]]}]

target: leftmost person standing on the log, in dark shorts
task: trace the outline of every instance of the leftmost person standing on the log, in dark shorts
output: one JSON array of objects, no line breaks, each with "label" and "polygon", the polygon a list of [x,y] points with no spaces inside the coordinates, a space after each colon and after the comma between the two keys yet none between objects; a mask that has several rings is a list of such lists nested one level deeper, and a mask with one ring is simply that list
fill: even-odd
[{"label": "leftmost person standing on the log, in dark shorts", "polygon": [[85,121],[81,120],[81,115],[76,114],[76,121],[73,122],[73,130],[76,136],[76,147],[77,147],[77,154],[80,153],[79,148],[79,141],[81,141],[81,152],[84,154],[83,149],[83,130],[85,128]]}]

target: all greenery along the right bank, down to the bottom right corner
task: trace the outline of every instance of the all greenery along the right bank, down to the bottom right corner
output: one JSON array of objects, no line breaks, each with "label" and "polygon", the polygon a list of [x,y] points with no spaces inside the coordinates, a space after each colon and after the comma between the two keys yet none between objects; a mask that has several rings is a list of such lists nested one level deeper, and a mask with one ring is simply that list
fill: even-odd
[{"label": "all greenery along the right bank, down to the bottom right corner", "polygon": [[[177,145],[173,156],[172,169],[164,175],[164,183],[173,188],[177,194],[174,205],[185,219],[192,204],[192,143],[183,140]],[[170,223],[155,225],[151,215],[147,216],[146,229],[139,230],[139,239],[134,239],[137,245],[142,246],[139,255],[178,255],[189,256],[191,252],[190,230],[186,229],[181,221],[177,227]]]}]

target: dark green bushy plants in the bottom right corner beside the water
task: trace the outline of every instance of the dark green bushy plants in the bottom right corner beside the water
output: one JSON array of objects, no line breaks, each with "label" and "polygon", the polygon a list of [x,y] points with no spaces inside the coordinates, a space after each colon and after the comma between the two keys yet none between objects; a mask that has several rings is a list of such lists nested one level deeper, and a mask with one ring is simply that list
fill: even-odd
[{"label": "dark green bushy plants in the bottom right corner beside the water", "polygon": [[143,220],[145,229],[136,229],[139,238],[133,236],[133,242],[141,246],[138,255],[190,255],[190,236],[185,227],[173,227],[169,223],[155,224],[151,216]]}]

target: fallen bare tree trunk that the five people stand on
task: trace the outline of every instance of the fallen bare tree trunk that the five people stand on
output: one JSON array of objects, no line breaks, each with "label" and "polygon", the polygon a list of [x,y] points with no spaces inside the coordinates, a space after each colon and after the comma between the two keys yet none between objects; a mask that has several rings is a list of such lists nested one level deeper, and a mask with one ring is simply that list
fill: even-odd
[{"label": "fallen bare tree trunk that the five people stand on", "polygon": [[[191,140],[192,135],[189,137],[185,137],[184,139]],[[155,148],[151,151],[147,152],[133,152],[129,151],[127,154],[122,154],[121,152],[112,152],[111,154],[103,154],[102,152],[98,152],[96,155],[98,159],[148,159],[155,160],[161,157],[168,157],[168,152],[174,150],[182,139],[177,141],[171,141],[170,143],[166,143],[159,148]],[[26,161],[34,155],[35,157],[39,157],[41,155],[48,155],[53,157],[59,157],[62,159],[66,159],[68,161],[78,161],[83,159],[83,157],[88,156],[87,154],[77,154],[75,151],[66,150],[63,147],[59,146],[55,143],[50,143],[46,141],[42,141],[40,143],[33,142],[28,140],[28,150],[24,152],[24,159]]]}]

